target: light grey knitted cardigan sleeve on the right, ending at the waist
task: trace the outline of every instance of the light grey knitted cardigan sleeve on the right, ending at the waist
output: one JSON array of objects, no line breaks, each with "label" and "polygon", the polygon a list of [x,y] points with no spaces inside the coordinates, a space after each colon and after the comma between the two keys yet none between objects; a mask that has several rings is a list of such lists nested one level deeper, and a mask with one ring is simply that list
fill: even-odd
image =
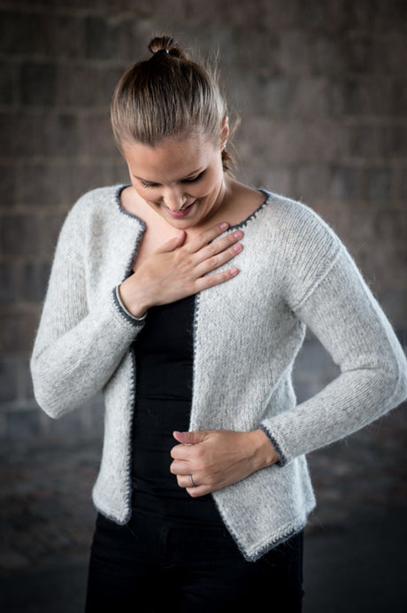
[{"label": "light grey knitted cardigan sleeve on the right, ending at the waist", "polygon": [[288,304],[341,372],[311,399],[259,424],[280,466],[359,430],[407,396],[403,349],[349,252],[334,239],[329,259],[314,257],[312,286],[293,282]]}]

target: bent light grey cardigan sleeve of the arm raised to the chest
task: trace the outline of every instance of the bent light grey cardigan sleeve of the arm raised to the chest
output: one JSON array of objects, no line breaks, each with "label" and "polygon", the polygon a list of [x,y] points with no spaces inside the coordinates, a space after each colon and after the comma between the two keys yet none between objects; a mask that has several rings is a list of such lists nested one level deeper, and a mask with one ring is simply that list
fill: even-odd
[{"label": "bent light grey cardigan sleeve of the arm raised to the chest", "polygon": [[144,323],[125,312],[116,288],[89,311],[78,246],[84,241],[82,231],[72,210],[58,238],[30,361],[35,400],[54,418],[104,387]]}]

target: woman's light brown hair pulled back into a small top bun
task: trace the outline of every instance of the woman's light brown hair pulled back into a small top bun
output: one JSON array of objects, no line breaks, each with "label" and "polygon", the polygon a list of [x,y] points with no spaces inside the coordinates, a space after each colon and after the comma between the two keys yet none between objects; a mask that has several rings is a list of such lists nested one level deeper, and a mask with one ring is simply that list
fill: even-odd
[{"label": "woman's light brown hair pulled back into a small top bun", "polygon": [[[111,126],[119,151],[125,143],[155,146],[165,137],[204,134],[220,144],[227,104],[214,68],[196,64],[170,36],[153,38],[150,59],[121,77],[111,102]],[[234,162],[224,149],[222,162]]]}]

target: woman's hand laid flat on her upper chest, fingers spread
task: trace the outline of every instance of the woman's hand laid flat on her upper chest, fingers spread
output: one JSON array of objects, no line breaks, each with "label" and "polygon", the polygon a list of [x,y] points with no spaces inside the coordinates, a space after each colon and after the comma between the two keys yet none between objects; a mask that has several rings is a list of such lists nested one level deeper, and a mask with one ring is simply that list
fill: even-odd
[{"label": "woman's hand laid flat on her upper chest, fingers spread", "polygon": [[208,275],[242,251],[242,244],[238,244],[242,230],[214,240],[228,227],[226,222],[217,224],[188,244],[184,244],[187,233],[180,230],[176,237],[159,247],[134,275],[120,284],[120,298],[127,310],[141,317],[150,307],[186,298],[237,275],[237,268]]}]

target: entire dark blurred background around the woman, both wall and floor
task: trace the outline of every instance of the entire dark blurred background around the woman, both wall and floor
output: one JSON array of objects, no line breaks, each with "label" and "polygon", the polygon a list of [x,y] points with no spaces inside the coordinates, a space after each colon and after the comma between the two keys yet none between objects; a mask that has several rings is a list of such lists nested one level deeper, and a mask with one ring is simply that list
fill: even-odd
[{"label": "entire dark blurred background around the woman, both wall and floor", "polygon": [[[65,213],[84,191],[127,182],[109,124],[112,90],[163,31],[195,57],[219,50],[230,114],[242,120],[237,178],[320,213],[405,346],[405,2],[0,0],[4,610],[63,611],[62,601],[81,610],[103,408],[96,399],[50,420],[35,404],[28,359]],[[335,374],[307,338],[299,400]],[[406,421],[396,409],[310,455],[319,499],[307,528],[310,611],[404,610]]]}]

